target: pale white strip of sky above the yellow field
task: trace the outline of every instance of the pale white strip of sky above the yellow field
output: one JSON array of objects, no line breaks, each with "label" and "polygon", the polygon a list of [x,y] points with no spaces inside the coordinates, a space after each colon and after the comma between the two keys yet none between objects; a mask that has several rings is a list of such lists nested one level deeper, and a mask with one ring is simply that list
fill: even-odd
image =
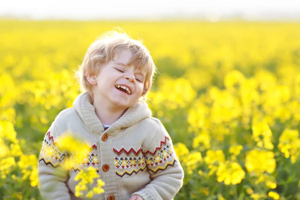
[{"label": "pale white strip of sky above the yellow field", "polygon": [[300,0],[1,0],[0,17],[160,19],[228,17],[300,20]]}]

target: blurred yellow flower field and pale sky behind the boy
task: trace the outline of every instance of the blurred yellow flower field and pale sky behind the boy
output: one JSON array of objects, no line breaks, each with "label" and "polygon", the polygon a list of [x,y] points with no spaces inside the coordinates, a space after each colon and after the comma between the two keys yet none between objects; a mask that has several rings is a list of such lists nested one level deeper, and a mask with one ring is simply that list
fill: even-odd
[{"label": "blurred yellow flower field and pale sky behind the boy", "polygon": [[0,1],[0,199],[36,165],[73,70],[103,31],[143,39],[148,94],[184,168],[175,199],[300,199],[300,1]]}]

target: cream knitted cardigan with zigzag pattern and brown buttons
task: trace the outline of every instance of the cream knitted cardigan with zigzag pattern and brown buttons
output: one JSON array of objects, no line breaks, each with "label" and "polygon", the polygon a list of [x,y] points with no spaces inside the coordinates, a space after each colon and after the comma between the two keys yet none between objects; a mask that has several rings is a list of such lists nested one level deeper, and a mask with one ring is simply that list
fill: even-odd
[{"label": "cream knitted cardigan with zigzag pattern and brown buttons", "polygon": [[[172,199],[182,185],[183,170],[169,134],[158,119],[150,117],[147,104],[137,102],[104,130],[90,101],[88,93],[79,94],[73,107],[62,110],[44,136],[38,159],[42,199],[80,199],[74,196],[74,177],[87,166],[95,167],[105,182],[104,193],[93,199],[128,200],[134,194],[144,200]],[[66,131],[83,136],[92,150],[84,163],[57,172],[63,154],[56,141]],[[54,149],[51,155],[49,148]]]}]

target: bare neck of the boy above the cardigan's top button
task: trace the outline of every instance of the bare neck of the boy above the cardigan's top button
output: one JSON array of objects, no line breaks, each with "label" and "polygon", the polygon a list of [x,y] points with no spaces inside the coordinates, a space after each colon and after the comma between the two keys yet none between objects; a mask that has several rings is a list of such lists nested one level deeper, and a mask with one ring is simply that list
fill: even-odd
[{"label": "bare neck of the boy above the cardigan's top button", "polygon": [[97,99],[94,99],[93,106],[95,107],[97,117],[100,119],[101,123],[105,125],[111,125],[125,110],[122,107],[104,105]]}]

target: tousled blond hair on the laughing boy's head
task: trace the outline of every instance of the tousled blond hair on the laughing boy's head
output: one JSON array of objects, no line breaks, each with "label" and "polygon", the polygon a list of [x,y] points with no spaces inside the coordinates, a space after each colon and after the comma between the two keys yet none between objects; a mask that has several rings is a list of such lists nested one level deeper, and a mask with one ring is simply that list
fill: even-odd
[{"label": "tousled blond hair on the laughing boy's head", "polygon": [[93,98],[93,89],[92,85],[87,81],[87,74],[98,74],[101,65],[113,60],[122,49],[128,49],[132,52],[132,58],[127,65],[133,65],[145,72],[144,88],[139,98],[139,100],[145,101],[152,85],[156,67],[149,50],[143,45],[142,40],[133,39],[120,29],[104,32],[87,48],[81,65],[75,70],[75,77],[80,84],[81,91],[87,91]]}]

